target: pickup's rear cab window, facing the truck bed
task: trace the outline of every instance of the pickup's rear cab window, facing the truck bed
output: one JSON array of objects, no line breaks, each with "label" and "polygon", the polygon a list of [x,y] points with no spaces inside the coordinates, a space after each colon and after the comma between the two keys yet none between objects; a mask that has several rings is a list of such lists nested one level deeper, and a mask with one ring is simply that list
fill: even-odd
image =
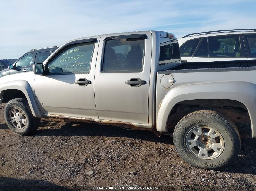
[{"label": "pickup's rear cab window, facing the truck bed", "polygon": [[175,39],[160,38],[159,65],[168,64],[181,60],[178,41]]}]

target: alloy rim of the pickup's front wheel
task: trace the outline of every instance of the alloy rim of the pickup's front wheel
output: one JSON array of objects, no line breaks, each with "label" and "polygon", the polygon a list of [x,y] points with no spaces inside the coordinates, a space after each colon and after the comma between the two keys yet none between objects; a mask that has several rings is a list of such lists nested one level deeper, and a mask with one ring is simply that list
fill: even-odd
[{"label": "alloy rim of the pickup's front wheel", "polygon": [[12,126],[18,130],[24,129],[27,124],[24,112],[18,107],[13,107],[10,109],[9,120]]}]

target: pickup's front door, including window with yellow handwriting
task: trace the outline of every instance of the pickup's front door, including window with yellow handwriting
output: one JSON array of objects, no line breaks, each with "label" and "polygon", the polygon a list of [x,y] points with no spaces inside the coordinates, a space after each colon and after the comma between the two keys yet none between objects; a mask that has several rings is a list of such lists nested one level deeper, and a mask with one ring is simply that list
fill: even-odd
[{"label": "pickup's front door, including window with yellow handwriting", "polygon": [[94,74],[99,37],[67,43],[35,76],[35,95],[43,114],[98,119]]}]

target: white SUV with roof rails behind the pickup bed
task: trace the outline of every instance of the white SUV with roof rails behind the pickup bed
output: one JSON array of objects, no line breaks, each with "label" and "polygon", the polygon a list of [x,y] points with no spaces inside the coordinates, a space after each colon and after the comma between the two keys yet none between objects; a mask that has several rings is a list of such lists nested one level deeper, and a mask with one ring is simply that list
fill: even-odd
[{"label": "white SUV with roof rails behind the pickup bed", "polygon": [[183,62],[256,59],[256,29],[193,33],[178,42]]}]

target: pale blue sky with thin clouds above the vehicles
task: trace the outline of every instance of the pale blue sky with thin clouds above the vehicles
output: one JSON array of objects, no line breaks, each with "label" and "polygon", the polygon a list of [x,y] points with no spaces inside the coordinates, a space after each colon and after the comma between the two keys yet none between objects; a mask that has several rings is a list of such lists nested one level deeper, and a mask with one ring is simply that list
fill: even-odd
[{"label": "pale blue sky with thin clouds above the vehicles", "polygon": [[85,36],[162,30],[182,37],[256,28],[255,0],[44,0],[0,2],[0,59]]}]

